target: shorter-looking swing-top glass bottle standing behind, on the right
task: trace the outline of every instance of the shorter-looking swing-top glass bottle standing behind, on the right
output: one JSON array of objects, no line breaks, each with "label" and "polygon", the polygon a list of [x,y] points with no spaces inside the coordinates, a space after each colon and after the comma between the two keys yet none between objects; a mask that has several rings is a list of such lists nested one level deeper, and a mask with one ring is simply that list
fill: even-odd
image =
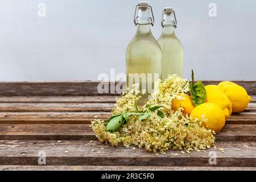
[{"label": "shorter-looking swing-top glass bottle standing behind, on the right", "polygon": [[175,35],[177,27],[175,11],[172,7],[165,7],[162,14],[163,32],[158,43],[162,49],[162,80],[168,75],[183,76],[183,47]]}]

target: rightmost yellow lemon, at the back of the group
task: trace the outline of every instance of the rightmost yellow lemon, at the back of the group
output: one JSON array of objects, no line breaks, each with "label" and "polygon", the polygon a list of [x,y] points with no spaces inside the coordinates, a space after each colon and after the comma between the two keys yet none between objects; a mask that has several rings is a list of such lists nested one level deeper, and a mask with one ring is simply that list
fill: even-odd
[{"label": "rightmost yellow lemon, at the back of the group", "polygon": [[230,102],[232,103],[232,112],[240,113],[246,109],[249,102],[251,101],[251,97],[248,96],[246,90],[233,82],[224,81],[218,84],[220,86],[222,92],[228,96]]}]

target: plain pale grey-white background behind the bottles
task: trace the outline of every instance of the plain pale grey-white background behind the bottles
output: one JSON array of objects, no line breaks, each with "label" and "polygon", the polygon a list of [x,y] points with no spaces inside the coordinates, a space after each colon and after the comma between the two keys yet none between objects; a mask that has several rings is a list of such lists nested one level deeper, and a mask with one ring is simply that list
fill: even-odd
[{"label": "plain pale grey-white background behind the bottles", "polygon": [[[38,4],[46,4],[46,17]],[[184,77],[256,80],[255,0],[151,0],[156,39],[164,6],[176,10]],[[209,3],[217,16],[210,17]],[[0,81],[97,80],[125,72],[137,1],[0,0]]]}]

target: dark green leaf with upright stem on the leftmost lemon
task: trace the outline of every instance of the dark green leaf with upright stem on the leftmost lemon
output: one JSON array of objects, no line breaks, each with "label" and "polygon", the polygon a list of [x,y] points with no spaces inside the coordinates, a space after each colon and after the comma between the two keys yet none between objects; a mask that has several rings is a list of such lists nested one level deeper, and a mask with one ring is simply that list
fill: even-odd
[{"label": "dark green leaf with upright stem on the leftmost lemon", "polygon": [[189,84],[189,91],[191,94],[191,99],[194,106],[198,106],[200,104],[203,104],[206,100],[206,90],[204,87],[203,82],[198,81],[194,84],[194,72],[192,70],[192,83]]}]

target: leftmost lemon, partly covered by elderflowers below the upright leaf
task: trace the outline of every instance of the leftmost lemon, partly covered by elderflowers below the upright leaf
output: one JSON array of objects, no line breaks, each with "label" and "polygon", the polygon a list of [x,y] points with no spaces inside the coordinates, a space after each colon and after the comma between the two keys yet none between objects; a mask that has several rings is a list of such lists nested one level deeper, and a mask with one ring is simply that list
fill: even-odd
[{"label": "leftmost lemon, partly covered by elderflowers below the upright leaf", "polygon": [[180,109],[180,107],[183,107],[183,114],[189,115],[195,106],[193,105],[191,97],[188,94],[185,94],[184,97],[185,100],[172,100],[172,110],[177,111]]}]

